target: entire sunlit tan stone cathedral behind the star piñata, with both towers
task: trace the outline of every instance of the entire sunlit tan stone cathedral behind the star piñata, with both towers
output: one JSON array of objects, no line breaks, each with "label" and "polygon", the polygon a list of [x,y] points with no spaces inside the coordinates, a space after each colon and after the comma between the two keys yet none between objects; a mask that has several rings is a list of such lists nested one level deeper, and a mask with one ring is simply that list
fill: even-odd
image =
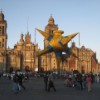
[{"label": "entire sunlit tan stone cathedral behind the star pi\u00f1ata, with both towers", "polygon": [[[58,25],[55,20],[50,16],[48,24],[44,31],[53,35],[53,31],[58,30]],[[38,44],[31,42],[31,34],[21,34],[19,41],[14,47],[7,48],[7,21],[4,14],[0,12],[0,71],[9,72],[13,70],[21,71],[57,71],[57,63],[55,53],[48,53],[41,57],[38,56],[40,51]],[[44,48],[48,45],[48,41],[44,40]],[[79,58],[73,56],[62,55],[60,62],[61,71],[74,71],[78,70],[82,73],[97,73],[100,71],[100,63],[96,59],[96,53],[91,49],[84,46],[81,48],[76,47],[73,42],[70,49]]]}]

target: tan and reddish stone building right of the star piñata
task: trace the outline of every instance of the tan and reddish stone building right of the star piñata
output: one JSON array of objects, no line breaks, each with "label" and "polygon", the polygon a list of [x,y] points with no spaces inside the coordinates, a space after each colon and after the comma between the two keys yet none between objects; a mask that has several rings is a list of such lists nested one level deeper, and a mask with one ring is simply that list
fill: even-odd
[{"label": "tan and reddish stone building right of the star pi\u00f1ata", "polygon": [[96,59],[96,53],[91,49],[85,48],[85,46],[78,48],[74,42],[72,43],[71,50],[79,59],[72,56],[67,58],[69,70],[78,70],[83,73],[97,72],[98,61]]}]

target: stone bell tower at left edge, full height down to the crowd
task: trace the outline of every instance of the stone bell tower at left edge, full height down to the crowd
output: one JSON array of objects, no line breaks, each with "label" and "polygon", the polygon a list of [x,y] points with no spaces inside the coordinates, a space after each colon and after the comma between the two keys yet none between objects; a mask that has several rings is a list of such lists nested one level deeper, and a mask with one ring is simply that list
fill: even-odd
[{"label": "stone bell tower at left edge, full height down to the crowd", "polygon": [[0,70],[7,71],[6,49],[7,49],[7,22],[4,14],[0,11]]}]

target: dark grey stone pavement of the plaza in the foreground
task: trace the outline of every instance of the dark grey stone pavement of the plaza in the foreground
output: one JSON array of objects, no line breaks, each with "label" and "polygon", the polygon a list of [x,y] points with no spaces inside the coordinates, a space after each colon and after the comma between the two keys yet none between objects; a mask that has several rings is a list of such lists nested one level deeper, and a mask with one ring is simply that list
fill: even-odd
[{"label": "dark grey stone pavement of the plaza in the foreground", "polygon": [[12,81],[8,78],[0,78],[0,100],[100,100],[100,84],[93,85],[93,91],[87,92],[87,89],[77,90],[72,87],[66,87],[64,80],[56,79],[56,92],[44,90],[44,81],[42,78],[32,78],[25,81],[26,90],[18,94],[12,92]]}]

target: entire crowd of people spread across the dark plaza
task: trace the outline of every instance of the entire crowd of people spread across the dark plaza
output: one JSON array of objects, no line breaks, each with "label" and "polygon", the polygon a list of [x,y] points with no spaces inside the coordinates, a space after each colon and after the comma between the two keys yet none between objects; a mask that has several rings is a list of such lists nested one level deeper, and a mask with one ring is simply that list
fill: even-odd
[{"label": "entire crowd of people spread across the dark plaza", "polygon": [[[2,75],[0,75],[1,77]],[[9,80],[13,81],[12,85],[12,91],[17,94],[18,92],[22,90],[26,90],[26,86],[23,84],[25,80],[29,80],[29,73],[14,73],[14,74],[8,74],[7,77]],[[54,73],[43,73],[42,75],[34,74],[31,76],[32,78],[43,78],[44,81],[44,89],[47,92],[50,92],[51,89],[53,89],[56,92],[55,88],[55,78],[63,79],[62,76],[58,77],[57,74]],[[64,85],[67,87],[74,87],[76,89],[87,89],[88,92],[92,91],[92,85],[93,83],[100,83],[100,75],[92,73],[89,74],[66,74],[66,77],[64,77]]]}]

